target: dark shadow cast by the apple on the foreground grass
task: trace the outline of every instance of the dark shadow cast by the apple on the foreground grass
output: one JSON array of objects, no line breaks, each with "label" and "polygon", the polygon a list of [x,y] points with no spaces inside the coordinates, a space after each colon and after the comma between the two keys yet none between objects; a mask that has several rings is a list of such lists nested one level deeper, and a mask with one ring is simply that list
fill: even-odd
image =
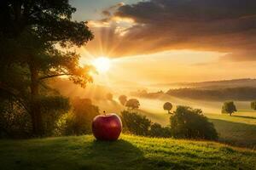
[{"label": "dark shadow cast by the apple on the foreground grass", "polygon": [[90,163],[86,165],[90,169],[187,169],[189,167],[178,162],[162,160],[162,157],[146,158],[142,150],[123,139],[114,142],[94,140],[90,150]]}]

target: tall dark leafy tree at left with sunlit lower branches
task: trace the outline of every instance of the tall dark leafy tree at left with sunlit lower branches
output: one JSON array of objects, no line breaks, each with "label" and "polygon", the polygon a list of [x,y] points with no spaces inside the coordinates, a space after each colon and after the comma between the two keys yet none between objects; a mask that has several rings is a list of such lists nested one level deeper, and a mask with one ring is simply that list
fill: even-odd
[{"label": "tall dark leafy tree at left with sunlit lower branches", "polygon": [[1,98],[20,102],[36,136],[44,134],[42,99],[45,103],[50,94],[46,80],[67,76],[82,87],[92,82],[90,67],[79,66],[79,54],[67,50],[93,38],[86,22],[71,20],[75,10],[67,0],[1,2]]}]

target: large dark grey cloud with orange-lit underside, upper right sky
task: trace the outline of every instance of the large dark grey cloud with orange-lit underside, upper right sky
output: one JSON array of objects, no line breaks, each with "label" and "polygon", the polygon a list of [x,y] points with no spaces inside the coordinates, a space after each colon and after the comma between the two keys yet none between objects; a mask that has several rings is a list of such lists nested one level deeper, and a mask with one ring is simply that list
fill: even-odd
[{"label": "large dark grey cloud with orange-lit underside, upper right sky", "polygon": [[[108,20],[111,25],[108,31],[104,30],[105,33],[113,32],[112,37],[107,37],[113,42],[108,47],[111,46],[111,54],[118,57],[171,49],[195,49],[230,53],[226,59],[256,59],[255,8],[255,0],[122,3],[108,8],[108,13],[104,12],[104,21]],[[123,20],[120,23],[114,19]],[[125,34],[115,29],[125,31]],[[100,38],[106,41],[104,37]]]}]

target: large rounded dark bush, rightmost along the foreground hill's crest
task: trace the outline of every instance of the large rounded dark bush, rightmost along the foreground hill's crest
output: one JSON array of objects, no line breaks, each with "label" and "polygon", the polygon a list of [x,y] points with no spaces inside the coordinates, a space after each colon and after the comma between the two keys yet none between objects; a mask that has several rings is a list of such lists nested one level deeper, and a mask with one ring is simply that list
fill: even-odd
[{"label": "large rounded dark bush, rightmost along the foreground hill's crest", "polygon": [[208,122],[199,109],[177,106],[175,114],[170,117],[172,135],[182,139],[218,139],[212,122]]}]

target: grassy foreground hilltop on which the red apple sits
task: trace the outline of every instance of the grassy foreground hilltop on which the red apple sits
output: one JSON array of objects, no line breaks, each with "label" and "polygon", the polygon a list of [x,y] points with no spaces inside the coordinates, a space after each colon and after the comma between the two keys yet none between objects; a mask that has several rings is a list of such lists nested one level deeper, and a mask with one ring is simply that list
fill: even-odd
[{"label": "grassy foreground hilltop on which the red apple sits", "polygon": [[256,151],[213,142],[122,135],[0,140],[1,169],[256,169]]}]

